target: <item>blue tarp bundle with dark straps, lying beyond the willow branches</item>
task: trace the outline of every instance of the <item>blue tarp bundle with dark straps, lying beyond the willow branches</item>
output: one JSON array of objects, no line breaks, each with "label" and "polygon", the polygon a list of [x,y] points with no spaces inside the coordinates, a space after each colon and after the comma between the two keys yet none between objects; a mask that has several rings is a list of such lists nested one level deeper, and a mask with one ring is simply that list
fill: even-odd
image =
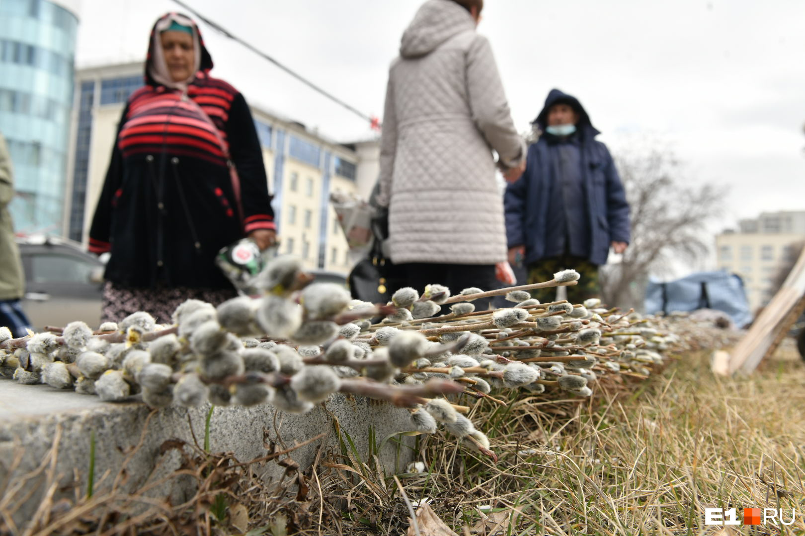
[{"label": "blue tarp bundle with dark straps, lying beyond the willow branches", "polygon": [[717,309],[727,313],[738,327],[752,321],[744,282],[728,272],[696,272],[665,283],[649,280],[645,305],[650,314]]}]

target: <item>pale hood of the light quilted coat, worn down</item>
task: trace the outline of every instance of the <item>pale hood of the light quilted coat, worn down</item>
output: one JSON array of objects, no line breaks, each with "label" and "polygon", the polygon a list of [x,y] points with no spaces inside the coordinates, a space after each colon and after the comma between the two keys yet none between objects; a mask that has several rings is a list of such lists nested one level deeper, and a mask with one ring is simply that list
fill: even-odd
[{"label": "pale hood of the light quilted coat, worn down", "polygon": [[400,55],[403,58],[428,55],[464,31],[475,31],[475,21],[468,10],[452,0],[427,0],[403,32]]}]

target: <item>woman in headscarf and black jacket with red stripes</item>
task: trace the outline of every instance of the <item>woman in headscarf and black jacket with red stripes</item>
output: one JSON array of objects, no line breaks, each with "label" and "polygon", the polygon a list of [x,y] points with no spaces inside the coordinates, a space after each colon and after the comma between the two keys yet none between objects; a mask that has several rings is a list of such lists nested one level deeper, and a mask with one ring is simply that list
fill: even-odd
[{"label": "woman in headscarf and black jacket with red stripes", "polygon": [[169,323],[188,298],[234,297],[217,252],[246,235],[262,249],[275,243],[249,107],[212,68],[196,23],[176,13],[157,20],[146,85],[123,111],[89,231],[89,251],[111,253],[105,321],[145,310]]}]

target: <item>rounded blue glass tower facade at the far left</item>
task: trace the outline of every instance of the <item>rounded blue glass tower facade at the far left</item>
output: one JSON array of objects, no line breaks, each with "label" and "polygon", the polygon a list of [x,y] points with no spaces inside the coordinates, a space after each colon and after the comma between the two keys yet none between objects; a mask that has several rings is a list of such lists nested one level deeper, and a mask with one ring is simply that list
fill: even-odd
[{"label": "rounded blue glass tower facade at the far left", "polygon": [[0,0],[0,132],[18,231],[64,234],[69,110],[78,19],[47,0]]}]

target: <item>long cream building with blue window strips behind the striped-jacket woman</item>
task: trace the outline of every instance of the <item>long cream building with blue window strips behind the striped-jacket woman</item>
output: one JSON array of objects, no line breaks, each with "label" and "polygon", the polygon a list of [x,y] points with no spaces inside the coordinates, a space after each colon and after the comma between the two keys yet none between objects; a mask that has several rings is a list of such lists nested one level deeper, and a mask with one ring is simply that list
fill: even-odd
[{"label": "long cream building with blue window strips behind the striped-jacket woman", "polygon": [[[118,121],[142,84],[142,62],[76,72],[64,211],[70,239],[86,243]],[[307,268],[349,272],[346,239],[329,196],[341,190],[368,197],[378,177],[379,141],[340,144],[275,113],[255,106],[251,112],[274,195],[280,252],[302,257]]]}]

